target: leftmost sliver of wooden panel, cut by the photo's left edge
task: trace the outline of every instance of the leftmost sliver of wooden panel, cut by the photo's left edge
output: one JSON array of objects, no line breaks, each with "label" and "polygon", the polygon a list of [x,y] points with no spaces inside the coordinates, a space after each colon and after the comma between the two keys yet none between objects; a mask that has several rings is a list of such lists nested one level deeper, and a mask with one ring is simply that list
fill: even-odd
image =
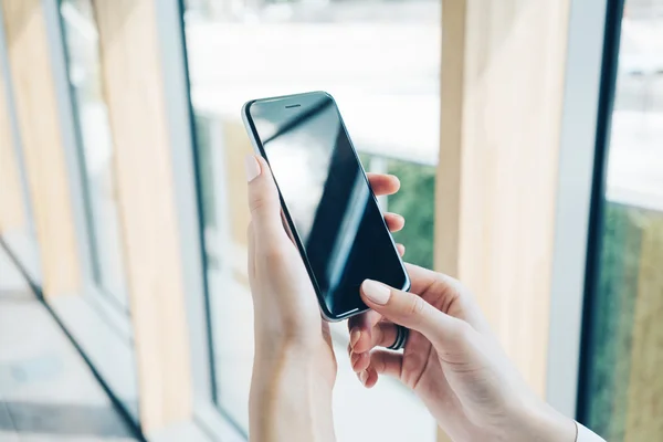
[{"label": "leftmost sliver of wooden panel, cut by the photo's left edge", "polygon": [[0,234],[27,228],[6,87],[7,78],[0,71]]}]

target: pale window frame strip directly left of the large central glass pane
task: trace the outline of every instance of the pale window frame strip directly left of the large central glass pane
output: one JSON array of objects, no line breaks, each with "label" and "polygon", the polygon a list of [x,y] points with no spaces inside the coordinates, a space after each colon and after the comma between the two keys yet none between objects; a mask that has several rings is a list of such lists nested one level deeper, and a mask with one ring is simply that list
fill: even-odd
[{"label": "pale window frame strip directly left of the large central glass pane", "polygon": [[185,287],[193,387],[193,419],[212,440],[245,441],[246,434],[217,407],[215,371],[211,332],[211,308],[206,277],[202,233],[202,193],[194,158],[196,130],[185,40],[183,0],[155,2],[160,45],[166,113],[172,151],[175,200]]}]

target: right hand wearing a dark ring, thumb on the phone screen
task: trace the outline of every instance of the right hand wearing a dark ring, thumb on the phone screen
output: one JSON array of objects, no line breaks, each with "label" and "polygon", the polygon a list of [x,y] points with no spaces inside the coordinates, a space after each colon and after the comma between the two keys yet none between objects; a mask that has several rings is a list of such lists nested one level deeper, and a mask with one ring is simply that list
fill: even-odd
[{"label": "right hand wearing a dark ring, thumb on the phone screen", "polygon": [[[371,307],[349,320],[350,360],[370,388],[396,377],[423,400],[454,441],[572,442],[576,425],[538,399],[503,352],[473,296],[457,281],[408,265],[412,293],[365,281]],[[377,349],[408,327],[402,354]]]}]

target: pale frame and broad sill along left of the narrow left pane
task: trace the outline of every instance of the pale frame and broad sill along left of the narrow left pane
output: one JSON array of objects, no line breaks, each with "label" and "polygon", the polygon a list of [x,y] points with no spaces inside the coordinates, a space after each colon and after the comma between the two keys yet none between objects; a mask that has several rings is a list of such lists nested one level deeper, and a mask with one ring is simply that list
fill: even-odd
[{"label": "pale frame and broad sill along left of the narrow left pane", "polygon": [[[95,267],[90,199],[85,190],[84,157],[77,109],[69,76],[69,54],[60,0],[43,0],[48,35],[49,61],[56,93],[57,117],[63,138],[65,167],[81,266],[81,286],[77,293],[52,297],[49,307],[87,361],[102,387],[118,407],[127,422],[139,427],[139,389],[131,324],[99,286]],[[90,334],[90,325],[95,333]],[[108,351],[110,349],[110,351]],[[117,368],[127,371],[119,373]],[[135,398],[133,398],[135,396]]]}]

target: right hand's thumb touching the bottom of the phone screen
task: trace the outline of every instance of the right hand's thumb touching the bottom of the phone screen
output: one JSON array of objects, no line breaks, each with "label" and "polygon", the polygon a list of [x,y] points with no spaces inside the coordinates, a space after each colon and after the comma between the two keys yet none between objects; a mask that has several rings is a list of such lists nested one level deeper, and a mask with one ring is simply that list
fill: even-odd
[{"label": "right hand's thumb touching the bottom of the phone screen", "polygon": [[425,336],[435,347],[450,348],[464,339],[470,325],[433,307],[421,296],[372,280],[361,284],[361,299],[373,311]]}]

